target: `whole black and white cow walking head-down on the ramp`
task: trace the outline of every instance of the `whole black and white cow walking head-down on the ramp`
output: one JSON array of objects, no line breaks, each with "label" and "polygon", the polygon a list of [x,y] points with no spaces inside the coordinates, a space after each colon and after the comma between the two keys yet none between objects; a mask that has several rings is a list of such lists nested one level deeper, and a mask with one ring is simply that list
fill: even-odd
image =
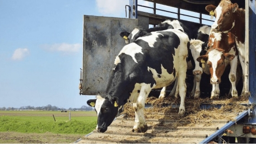
[{"label": "whole black and white cow walking head-down on the ramp", "polygon": [[135,111],[133,132],[146,132],[144,105],[149,92],[170,85],[176,77],[183,115],[188,48],[189,38],[179,29],[151,32],[125,45],[114,61],[106,91],[87,101],[98,115],[97,131],[104,133],[128,102]]}]

